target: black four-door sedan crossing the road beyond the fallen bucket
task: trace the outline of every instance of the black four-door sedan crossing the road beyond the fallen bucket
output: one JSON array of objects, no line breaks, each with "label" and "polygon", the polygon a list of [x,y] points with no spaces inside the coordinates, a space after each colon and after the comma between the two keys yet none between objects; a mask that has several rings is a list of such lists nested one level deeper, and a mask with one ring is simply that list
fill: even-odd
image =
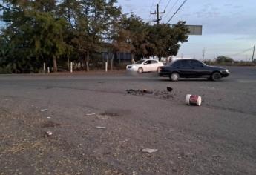
[{"label": "black four-door sedan crossing the road beyond the fallen bucket", "polygon": [[229,76],[229,70],[222,67],[212,67],[196,59],[179,59],[171,65],[160,67],[159,76],[167,76],[172,81],[180,78],[207,78],[218,81]]}]

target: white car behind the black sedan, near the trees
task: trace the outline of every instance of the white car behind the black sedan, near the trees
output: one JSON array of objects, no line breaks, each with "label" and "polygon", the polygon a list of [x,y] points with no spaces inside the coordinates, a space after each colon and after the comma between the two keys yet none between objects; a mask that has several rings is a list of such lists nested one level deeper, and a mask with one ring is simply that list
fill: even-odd
[{"label": "white car behind the black sedan, near the trees", "polygon": [[141,59],[132,65],[126,66],[126,70],[136,71],[138,73],[143,72],[159,72],[160,67],[163,66],[163,62],[158,62],[154,59]]}]

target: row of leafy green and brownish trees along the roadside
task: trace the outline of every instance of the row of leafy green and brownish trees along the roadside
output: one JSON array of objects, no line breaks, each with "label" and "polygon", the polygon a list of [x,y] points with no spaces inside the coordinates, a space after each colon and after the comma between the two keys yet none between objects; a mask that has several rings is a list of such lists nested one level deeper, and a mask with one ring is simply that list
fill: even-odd
[{"label": "row of leafy green and brownish trees along the roadside", "polygon": [[93,53],[128,52],[134,58],[176,56],[188,41],[186,22],[148,24],[124,14],[117,0],[4,0],[7,26],[0,32],[0,71],[38,72],[43,62],[82,61]]}]

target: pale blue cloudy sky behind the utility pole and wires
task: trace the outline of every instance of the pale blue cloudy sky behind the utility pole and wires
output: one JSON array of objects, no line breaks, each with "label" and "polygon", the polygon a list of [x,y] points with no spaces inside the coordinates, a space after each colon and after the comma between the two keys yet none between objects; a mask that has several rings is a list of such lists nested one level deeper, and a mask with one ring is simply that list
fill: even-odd
[{"label": "pale blue cloudy sky behind the utility pole and wires", "polygon": [[[123,13],[134,12],[145,22],[154,24],[156,4],[160,5],[162,23],[174,14],[184,0],[118,0]],[[167,6],[168,4],[168,6]],[[165,9],[166,8],[166,9]],[[256,44],[255,0],[187,0],[170,24],[186,21],[186,24],[203,25],[202,36],[189,36],[177,56],[214,59],[214,56],[230,56],[235,60],[252,60]],[[255,56],[256,57],[256,56]]]}]

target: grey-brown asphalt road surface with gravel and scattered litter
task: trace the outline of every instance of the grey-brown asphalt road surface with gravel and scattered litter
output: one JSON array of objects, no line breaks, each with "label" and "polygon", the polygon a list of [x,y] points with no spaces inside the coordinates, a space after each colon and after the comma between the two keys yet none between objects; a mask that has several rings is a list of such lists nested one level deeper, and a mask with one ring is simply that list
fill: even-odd
[{"label": "grey-brown asphalt road surface with gravel and scattered litter", "polygon": [[256,174],[256,67],[229,70],[220,82],[1,75],[0,174]]}]

